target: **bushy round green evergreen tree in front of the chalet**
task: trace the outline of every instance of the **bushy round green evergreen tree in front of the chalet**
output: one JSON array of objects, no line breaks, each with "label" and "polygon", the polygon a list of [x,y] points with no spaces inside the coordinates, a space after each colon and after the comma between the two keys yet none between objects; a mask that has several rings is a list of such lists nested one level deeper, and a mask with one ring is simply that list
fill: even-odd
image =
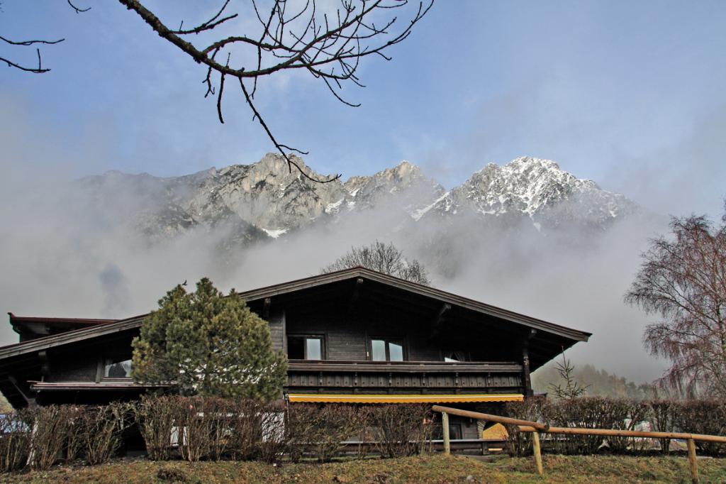
[{"label": "bushy round green evergreen tree in front of the chalet", "polygon": [[272,400],[285,383],[287,358],[272,350],[266,321],[208,278],[192,294],[168,291],[132,345],[136,382],[174,382],[185,395]]}]

